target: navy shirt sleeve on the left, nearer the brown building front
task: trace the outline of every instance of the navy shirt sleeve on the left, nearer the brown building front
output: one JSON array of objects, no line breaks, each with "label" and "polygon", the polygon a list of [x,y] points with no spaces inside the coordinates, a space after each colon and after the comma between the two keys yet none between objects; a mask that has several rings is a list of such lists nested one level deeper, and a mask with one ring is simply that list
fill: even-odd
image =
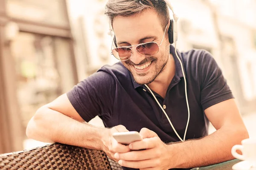
[{"label": "navy shirt sleeve on the left, nearer the brown building front", "polygon": [[108,120],[113,113],[115,90],[114,78],[99,71],[75,85],[67,97],[84,121],[89,122],[95,116]]}]

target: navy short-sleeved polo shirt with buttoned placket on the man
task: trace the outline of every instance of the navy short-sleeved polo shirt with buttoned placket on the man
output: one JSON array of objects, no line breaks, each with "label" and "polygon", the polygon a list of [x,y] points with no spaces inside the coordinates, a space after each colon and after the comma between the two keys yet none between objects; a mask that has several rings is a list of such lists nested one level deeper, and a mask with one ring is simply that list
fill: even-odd
[{"label": "navy short-sleeved polo shirt with buttoned placket on the man", "polygon": [[[164,99],[155,92],[154,95],[183,138],[188,119],[184,77],[172,45],[170,53],[175,59],[175,76]],[[186,74],[190,108],[186,139],[201,138],[208,135],[209,121],[204,110],[233,95],[221,69],[207,51],[178,52],[178,56]],[[157,133],[163,142],[180,141],[154,97],[144,85],[134,82],[121,62],[103,66],[74,86],[67,96],[86,122],[98,115],[105,127],[124,125],[129,131],[138,132],[146,127]]]}]

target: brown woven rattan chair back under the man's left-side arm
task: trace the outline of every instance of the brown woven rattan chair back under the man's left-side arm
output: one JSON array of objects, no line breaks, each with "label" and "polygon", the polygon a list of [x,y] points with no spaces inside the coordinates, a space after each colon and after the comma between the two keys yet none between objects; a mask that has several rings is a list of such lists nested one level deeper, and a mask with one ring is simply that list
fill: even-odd
[{"label": "brown woven rattan chair back under the man's left-side arm", "polygon": [[0,170],[112,170],[107,155],[67,144],[49,144],[0,155]]}]

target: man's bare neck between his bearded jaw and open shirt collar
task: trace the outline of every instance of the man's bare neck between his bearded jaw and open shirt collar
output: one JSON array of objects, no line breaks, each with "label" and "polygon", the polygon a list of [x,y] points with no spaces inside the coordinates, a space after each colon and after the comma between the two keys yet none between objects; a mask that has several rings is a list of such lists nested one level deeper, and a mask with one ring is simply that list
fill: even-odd
[{"label": "man's bare neck between his bearded jaw and open shirt collar", "polygon": [[175,60],[172,54],[169,55],[169,59],[163,68],[162,72],[154,79],[153,82],[148,84],[148,87],[165,98],[166,91],[175,75]]}]

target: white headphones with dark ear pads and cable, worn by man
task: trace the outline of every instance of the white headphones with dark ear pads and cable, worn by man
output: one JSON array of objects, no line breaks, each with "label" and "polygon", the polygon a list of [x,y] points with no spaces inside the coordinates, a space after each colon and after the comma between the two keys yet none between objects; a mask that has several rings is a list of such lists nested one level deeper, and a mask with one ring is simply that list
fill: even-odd
[{"label": "white headphones with dark ear pads and cable, worn by man", "polygon": [[[156,0],[158,2],[158,0]],[[182,74],[183,74],[183,78],[184,78],[184,83],[185,83],[185,96],[186,96],[186,105],[187,105],[187,109],[188,109],[188,120],[187,120],[187,124],[186,124],[186,129],[185,129],[185,133],[184,133],[184,137],[183,139],[179,136],[179,134],[177,133],[177,131],[175,130],[175,127],[172,125],[171,120],[169,119],[169,116],[166,114],[166,111],[163,109],[163,107],[160,105],[160,103],[158,102],[157,98],[155,97],[155,95],[153,94],[153,92],[151,91],[151,89],[148,87],[148,85],[145,85],[146,88],[148,88],[148,90],[150,91],[150,93],[152,94],[152,96],[154,97],[155,101],[157,102],[157,104],[159,105],[159,107],[162,109],[163,113],[166,115],[166,118],[168,119],[170,125],[172,126],[172,129],[174,130],[175,134],[177,135],[177,137],[180,139],[181,142],[185,142],[186,139],[186,132],[189,126],[189,119],[190,119],[190,110],[189,110],[189,101],[188,101],[188,95],[187,95],[187,85],[186,85],[186,75],[185,75],[185,71],[183,68],[183,64],[180,60],[180,58],[178,57],[177,54],[177,40],[178,40],[178,29],[177,29],[177,21],[179,19],[179,17],[177,16],[177,14],[174,12],[174,9],[172,7],[172,4],[169,2],[169,0],[164,0],[167,4],[167,6],[169,6],[169,8],[172,11],[173,14],[173,19],[170,20],[170,26],[168,29],[168,37],[169,37],[169,42],[170,44],[175,44],[175,55],[177,57],[177,59],[180,62],[181,65],[181,70],[182,70]],[[141,1],[140,1],[141,3]],[[111,35],[111,37],[113,36],[113,30],[112,30],[112,26],[111,23],[109,23],[109,35]],[[115,38],[115,37],[114,37]],[[115,42],[115,41],[114,41]],[[115,42],[116,44],[116,42]]]}]

